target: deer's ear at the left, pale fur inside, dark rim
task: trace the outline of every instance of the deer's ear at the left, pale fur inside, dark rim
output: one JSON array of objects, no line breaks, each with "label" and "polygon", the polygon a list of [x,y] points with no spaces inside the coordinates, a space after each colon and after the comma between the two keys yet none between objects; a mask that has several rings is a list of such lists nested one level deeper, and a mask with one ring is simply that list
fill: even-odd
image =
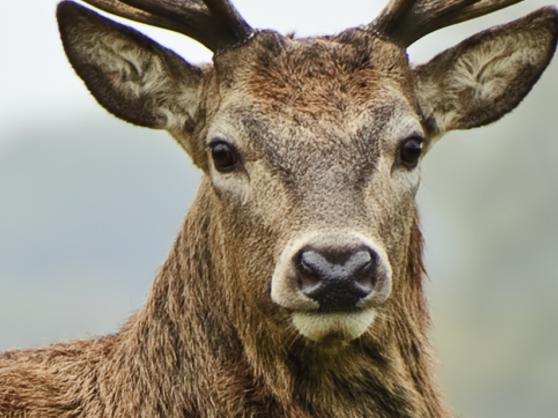
[{"label": "deer's ear at the left, pale fur inside, dark rim", "polygon": [[68,59],[97,101],[136,125],[180,129],[197,110],[202,71],[129,27],[70,1],[57,9]]}]

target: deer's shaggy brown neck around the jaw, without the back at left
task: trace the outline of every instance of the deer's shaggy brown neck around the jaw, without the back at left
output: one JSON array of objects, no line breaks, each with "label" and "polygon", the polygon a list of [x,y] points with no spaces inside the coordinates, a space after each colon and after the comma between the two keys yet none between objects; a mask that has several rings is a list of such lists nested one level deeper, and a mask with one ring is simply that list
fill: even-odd
[{"label": "deer's shaggy brown neck around the jaw, without the back at left", "polygon": [[211,205],[204,184],[146,305],[118,336],[113,369],[120,372],[110,380],[128,388],[134,381],[137,393],[128,398],[145,409],[145,396],[153,396],[154,411],[168,416],[176,408],[201,416],[448,416],[431,376],[418,222],[395,280],[412,286],[395,289],[391,319],[379,319],[377,336],[324,350],[234,325],[217,285],[221,237]]}]

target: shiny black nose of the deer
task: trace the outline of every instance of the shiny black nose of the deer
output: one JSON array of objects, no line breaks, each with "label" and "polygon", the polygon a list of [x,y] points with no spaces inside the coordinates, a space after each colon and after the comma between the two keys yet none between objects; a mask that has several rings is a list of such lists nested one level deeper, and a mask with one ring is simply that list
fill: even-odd
[{"label": "shiny black nose of the deer", "polygon": [[355,308],[376,284],[377,254],[368,247],[317,250],[303,248],[296,256],[302,293],[319,302],[320,311]]}]

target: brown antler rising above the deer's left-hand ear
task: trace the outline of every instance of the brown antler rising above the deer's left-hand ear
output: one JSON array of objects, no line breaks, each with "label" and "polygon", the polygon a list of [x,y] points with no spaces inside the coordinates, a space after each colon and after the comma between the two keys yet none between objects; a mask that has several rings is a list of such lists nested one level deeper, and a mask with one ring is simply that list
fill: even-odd
[{"label": "brown antler rising above the deer's left-hand ear", "polygon": [[253,30],[229,0],[84,0],[106,12],[159,26],[219,51],[248,39]]}]

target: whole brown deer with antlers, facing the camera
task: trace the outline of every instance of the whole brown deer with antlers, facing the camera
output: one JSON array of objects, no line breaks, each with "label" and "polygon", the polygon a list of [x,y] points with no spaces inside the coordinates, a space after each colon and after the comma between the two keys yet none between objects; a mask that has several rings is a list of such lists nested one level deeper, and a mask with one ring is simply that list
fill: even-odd
[{"label": "whole brown deer with antlers, facing the camera", "polygon": [[522,101],[558,10],[425,64],[406,51],[517,2],[391,0],[371,23],[298,38],[252,28],[228,0],[86,0],[213,51],[194,65],[62,1],[62,44],[99,104],[168,131],[203,177],[118,332],[0,354],[0,416],[452,416],[429,340],[421,163],[444,133]]}]

